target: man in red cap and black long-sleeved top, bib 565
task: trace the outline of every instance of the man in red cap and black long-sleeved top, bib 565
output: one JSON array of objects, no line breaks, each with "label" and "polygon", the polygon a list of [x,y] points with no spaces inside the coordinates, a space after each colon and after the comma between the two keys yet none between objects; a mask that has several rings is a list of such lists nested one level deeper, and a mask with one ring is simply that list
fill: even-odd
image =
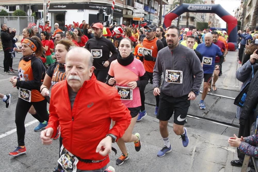
[{"label": "man in red cap and black long-sleeved top, bib 565", "polygon": [[[114,44],[102,36],[103,25],[101,23],[95,23],[92,28],[94,29],[94,38],[87,41],[85,48],[93,55],[94,75],[97,80],[106,82],[110,63],[116,60],[118,52]],[[109,56],[110,52],[111,56]]]}]

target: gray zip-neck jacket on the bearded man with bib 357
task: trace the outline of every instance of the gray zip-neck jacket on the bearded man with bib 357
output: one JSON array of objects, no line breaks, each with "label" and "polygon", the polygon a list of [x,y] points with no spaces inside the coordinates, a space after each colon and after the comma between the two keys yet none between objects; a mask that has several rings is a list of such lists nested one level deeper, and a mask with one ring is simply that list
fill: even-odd
[{"label": "gray zip-neck jacket on the bearded man with bib 357", "polygon": [[[181,71],[181,74],[167,70]],[[153,88],[159,87],[162,72],[165,79],[160,91],[173,97],[188,95],[191,90],[198,92],[203,80],[203,68],[197,55],[193,50],[181,44],[173,50],[165,47],[158,52],[153,70]],[[193,83],[192,74],[195,76]]]}]

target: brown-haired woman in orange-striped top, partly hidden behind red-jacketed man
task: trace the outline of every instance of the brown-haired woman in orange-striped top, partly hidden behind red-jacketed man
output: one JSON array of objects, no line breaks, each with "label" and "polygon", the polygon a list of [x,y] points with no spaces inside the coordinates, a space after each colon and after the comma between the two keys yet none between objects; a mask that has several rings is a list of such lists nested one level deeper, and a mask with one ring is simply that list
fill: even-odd
[{"label": "brown-haired woman in orange-striped top, partly hidden behind red-jacketed man", "polygon": [[[66,79],[65,73],[65,58],[66,54],[69,51],[70,47],[75,46],[73,42],[70,40],[60,40],[57,45],[55,46],[55,56],[57,58],[57,62],[52,63],[50,67],[47,69],[46,76],[44,78],[44,82],[41,85],[41,95],[49,96],[49,89],[51,86],[54,86],[59,81]],[[60,126],[57,129],[57,134],[53,137],[53,139],[58,139],[60,135]],[[59,150],[62,146],[63,138],[60,135],[59,139]],[[60,158],[60,154],[59,154]],[[63,170],[62,166],[58,164],[57,169],[55,172]]]}]

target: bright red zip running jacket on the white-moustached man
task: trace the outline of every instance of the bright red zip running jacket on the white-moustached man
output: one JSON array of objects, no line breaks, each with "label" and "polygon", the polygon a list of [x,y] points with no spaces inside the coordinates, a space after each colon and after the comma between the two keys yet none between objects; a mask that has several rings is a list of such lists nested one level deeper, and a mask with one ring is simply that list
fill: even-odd
[{"label": "bright red zip running jacket on the white-moustached man", "polygon": [[[51,138],[60,124],[64,147],[75,156],[90,160],[104,159],[96,153],[99,142],[109,133],[117,136],[117,139],[122,137],[131,122],[130,111],[121,103],[117,90],[97,81],[94,74],[79,89],[72,110],[67,81],[55,84],[51,91],[49,112],[46,128],[54,129]],[[111,119],[116,124],[109,129]],[[100,169],[108,162],[109,157],[99,163],[79,161],[77,169]]]}]

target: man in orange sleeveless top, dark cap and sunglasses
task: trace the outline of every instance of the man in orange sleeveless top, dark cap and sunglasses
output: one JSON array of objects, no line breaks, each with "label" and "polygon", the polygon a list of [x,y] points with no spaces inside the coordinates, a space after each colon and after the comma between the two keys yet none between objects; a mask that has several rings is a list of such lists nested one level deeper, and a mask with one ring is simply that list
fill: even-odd
[{"label": "man in orange sleeveless top, dark cap and sunglasses", "polygon": [[[153,68],[156,62],[158,51],[164,48],[164,45],[160,39],[156,37],[156,27],[154,25],[144,26],[146,37],[142,41],[143,46],[143,66],[146,71],[148,80],[150,79],[150,83],[152,84],[153,79]],[[147,113],[145,111],[145,95],[144,89],[146,85],[142,85],[140,87],[140,95],[141,95],[141,111],[137,118],[137,121],[140,121],[142,117],[146,116]],[[155,115],[157,115],[159,108],[159,96],[155,96],[156,98],[156,107],[155,107]]]}]

